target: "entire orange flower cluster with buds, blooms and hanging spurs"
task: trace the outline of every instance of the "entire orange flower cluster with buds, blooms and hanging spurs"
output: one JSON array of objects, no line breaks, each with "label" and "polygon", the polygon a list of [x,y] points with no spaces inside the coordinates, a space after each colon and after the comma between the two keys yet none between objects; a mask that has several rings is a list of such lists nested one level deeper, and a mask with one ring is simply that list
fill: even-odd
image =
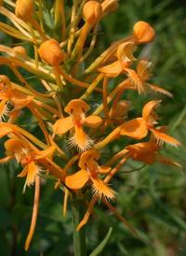
[{"label": "entire orange flower cluster with buds, blooms and hanging spurs", "polygon": [[[17,0],[14,4],[5,0],[0,5],[0,14],[12,22],[12,26],[0,22],[0,29],[19,44],[16,47],[0,45],[0,64],[7,65],[17,78],[14,82],[7,74],[0,75],[0,137],[7,136],[6,156],[0,163],[15,158],[23,166],[18,177],[26,176],[23,191],[35,182],[37,199],[40,175],[45,170],[46,178],[51,173],[54,180],[58,180],[56,188],[59,185],[63,188],[66,199],[68,195],[72,200],[84,198],[90,191],[85,218],[77,226],[77,231],[86,224],[97,199],[126,222],[109,203],[117,192],[108,183],[128,159],[145,164],[158,160],[180,167],[158,153],[165,142],[174,147],[179,145],[177,139],[166,135],[165,126],[156,126],[159,120],[156,107],[161,100],[147,102],[141,117],[127,118],[127,112],[133,106],[132,102],[125,100],[126,91],[139,93],[139,97],[147,90],[172,96],[171,92],[148,82],[153,76],[149,70],[149,58],[138,60],[137,56],[134,57],[140,44],[153,41],[153,27],[145,21],[138,21],[131,36],[114,42],[92,61],[99,23],[118,7],[118,0],[74,0],[69,21],[65,20],[69,8],[65,9],[63,0],[56,0],[51,7],[53,11],[49,9],[54,28],[61,29],[55,34],[55,29],[51,33],[43,20],[46,6],[42,1]],[[90,32],[93,32],[92,39],[86,49],[86,36]],[[27,43],[32,46],[34,57],[31,50],[25,50]],[[136,62],[135,70],[133,64]],[[27,79],[31,74],[36,78],[34,84],[32,79]],[[122,81],[111,90],[108,84],[115,78],[122,78]],[[25,108],[40,127],[38,137],[33,135],[32,124],[28,129],[21,127]],[[149,132],[149,142],[123,147],[121,151],[113,152],[108,163],[100,164],[104,161],[102,151],[109,143],[118,143],[121,136],[140,140]],[[39,200],[35,202],[25,249],[29,248],[36,222]],[[126,225],[137,234],[127,222]]]}]

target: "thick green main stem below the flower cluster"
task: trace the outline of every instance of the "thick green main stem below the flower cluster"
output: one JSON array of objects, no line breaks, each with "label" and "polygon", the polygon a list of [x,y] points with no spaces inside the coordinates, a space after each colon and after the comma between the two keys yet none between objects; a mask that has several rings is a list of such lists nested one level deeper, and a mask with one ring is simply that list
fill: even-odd
[{"label": "thick green main stem below the flower cluster", "polygon": [[86,256],[86,228],[83,226],[80,231],[76,231],[79,222],[85,215],[85,200],[82,198],[72,199],[72,212],[74,256]]}]

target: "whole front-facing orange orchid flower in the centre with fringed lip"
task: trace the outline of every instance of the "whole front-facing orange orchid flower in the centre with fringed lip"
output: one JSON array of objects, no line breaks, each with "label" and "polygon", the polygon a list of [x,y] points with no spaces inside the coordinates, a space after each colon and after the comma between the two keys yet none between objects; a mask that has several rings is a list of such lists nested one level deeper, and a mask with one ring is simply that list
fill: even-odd
[{"label": "whole front-facing orange orchid flower in the centre with fringed lip", "polygon": [[64,108],[70,117],[60,119],[53,125],[53,130],[59,135],[66,134],[70,129],[74,127],[75,133],[69,140],[70,147],[77,147],[80,151],[89,149],[93,144],[93,140],[86,135],[83,129],[83,125],[91,128],[97,128],[101,119],[98,116],[89,116],[86,118],[86,112],[90,107],[80,99],[73,99]]}]

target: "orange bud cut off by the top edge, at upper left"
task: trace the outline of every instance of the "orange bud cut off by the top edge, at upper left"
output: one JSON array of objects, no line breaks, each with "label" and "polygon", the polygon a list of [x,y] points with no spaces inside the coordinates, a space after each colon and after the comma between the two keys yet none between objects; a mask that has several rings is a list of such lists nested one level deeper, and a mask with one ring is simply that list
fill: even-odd
[{"label": "orange bud cut off by the top edge, at upper left", "polygon": [[23,21],[30,21],[33,15],[34,5],[32,0],[17,0],[16,16]]}]

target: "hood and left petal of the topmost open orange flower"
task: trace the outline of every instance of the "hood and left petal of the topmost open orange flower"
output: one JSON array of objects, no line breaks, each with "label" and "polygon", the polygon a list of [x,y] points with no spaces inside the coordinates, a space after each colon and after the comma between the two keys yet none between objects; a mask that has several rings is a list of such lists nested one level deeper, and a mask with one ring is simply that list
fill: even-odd
[{"label": "hood and left petal of the topmost open orange flower", "polygon": [[98,70],[109,78],[116,78],[119,74],[126,73],[126,67],[137,60],[132,54],[135,50],[137,50],[137,47],[134,45],[134,42],[120,44],[117,49],[117,61],[100,67]]}]

